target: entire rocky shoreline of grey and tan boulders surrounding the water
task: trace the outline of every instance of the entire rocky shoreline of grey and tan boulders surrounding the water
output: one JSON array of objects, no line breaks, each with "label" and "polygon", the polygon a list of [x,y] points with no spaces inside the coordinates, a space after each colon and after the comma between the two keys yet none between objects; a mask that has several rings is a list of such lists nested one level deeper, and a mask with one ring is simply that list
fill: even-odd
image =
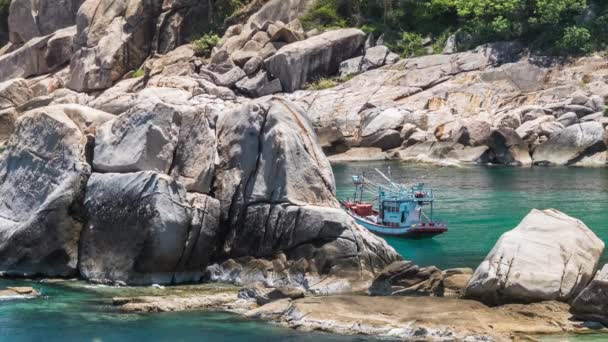
[{"label": "entire rocky shoreline of grey and tan boulders surrounding the water", "polygon": [[606,57],[496,42],[400,59],[356,28],[306,32],[307,4],[252,2],[205,56],[185,40],[199,2],[13,0],[0,275],[228,283],[114,304],[403,339],[608,322],[604,242],[579,220],[534,210],[475,271],[419,267],[340,209],[330,165],[605,166]]}]

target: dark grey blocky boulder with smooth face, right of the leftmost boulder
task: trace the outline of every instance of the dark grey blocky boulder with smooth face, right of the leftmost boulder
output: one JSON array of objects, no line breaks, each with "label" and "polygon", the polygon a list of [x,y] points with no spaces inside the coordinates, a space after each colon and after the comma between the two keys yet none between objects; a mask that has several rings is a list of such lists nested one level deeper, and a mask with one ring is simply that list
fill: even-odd
[{"label": "dark grey blocky boulder with smooth face, right of the leftmost boulder", "polygon": [[154,172],[93,174],[79,269],[96,282],[199,281],[216,245],[219,203]]}]

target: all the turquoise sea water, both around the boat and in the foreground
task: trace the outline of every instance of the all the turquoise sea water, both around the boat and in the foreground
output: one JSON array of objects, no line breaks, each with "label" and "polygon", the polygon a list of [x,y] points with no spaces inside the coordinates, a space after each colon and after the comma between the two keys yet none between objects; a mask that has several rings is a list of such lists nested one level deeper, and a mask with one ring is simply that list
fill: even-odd
[{"label": "all the turquoise sea water, both around the boat and in the foreground", "polygon": [[[336,165],[338,196],[352,195],[351,175],[427,182],[435,188],[436,214],[449,233],[432,240],[389,239],[406,259],[440,268],[476,267],[505,231],[532,208],[556,208],[583,220],[608,239],[608,169],[437,168],[399,163]],[[608,259],[605,258],[605,262]],[[0,279],[6,286],[33,286],[36,299],[0,301],[0,342],[21,341],[372,341],[361,337],[300,333],[217,312],[124,314],[111,297],[117,289]],[[554,336],[543,341],[605,341],[608,335]]]}]

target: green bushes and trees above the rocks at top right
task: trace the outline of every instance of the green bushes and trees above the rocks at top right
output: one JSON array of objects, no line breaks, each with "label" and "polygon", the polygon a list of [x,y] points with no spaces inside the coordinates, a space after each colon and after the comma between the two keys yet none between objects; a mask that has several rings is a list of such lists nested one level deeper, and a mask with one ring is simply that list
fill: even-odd
[{"label": "green bushes and trees above the rocks at top right", "polygon": [[356,26],[404,56],[437,53],[456,34],[460,46],[519,40],[550,54],[608,47],[605,0],[317,0],[307,29]]}]

